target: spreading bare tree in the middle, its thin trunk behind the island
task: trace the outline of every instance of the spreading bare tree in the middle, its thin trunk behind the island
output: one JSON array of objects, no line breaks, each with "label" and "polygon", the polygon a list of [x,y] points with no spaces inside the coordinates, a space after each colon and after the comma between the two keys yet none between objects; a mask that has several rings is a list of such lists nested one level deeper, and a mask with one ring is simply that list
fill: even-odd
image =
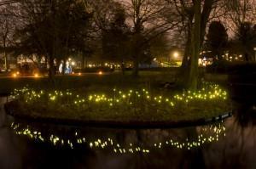
[{"label": "spreading bare tree in the middle, its thin trunk behind the island", "polygon": [[169,5],[165,0],[102,0],[92,4],[102,33],[103,55],[122,62],[131,60],[134,76],[138,76],[139,64],[153,59],[154,41],[176,24],[174,16],[166,16]]}]

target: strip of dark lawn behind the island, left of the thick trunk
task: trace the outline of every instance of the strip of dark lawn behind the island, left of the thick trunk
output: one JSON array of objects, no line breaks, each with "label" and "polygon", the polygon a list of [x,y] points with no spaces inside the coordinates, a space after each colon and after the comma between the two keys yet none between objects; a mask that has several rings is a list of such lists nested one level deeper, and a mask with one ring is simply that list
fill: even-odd
[{"label": "strip of dark lawn behind the island, left of the thick trunk", "polygon": [[15,88],[31,87],[34,89],[72,89],[90,87],[156,87],[160,82],[173,82],[174,72],[141,71],[138,78],[127,72],[106,75],[86,74],[84,76],[55,76],[55,82],[48,78],[0,78],[0,93],[10,93]]}]

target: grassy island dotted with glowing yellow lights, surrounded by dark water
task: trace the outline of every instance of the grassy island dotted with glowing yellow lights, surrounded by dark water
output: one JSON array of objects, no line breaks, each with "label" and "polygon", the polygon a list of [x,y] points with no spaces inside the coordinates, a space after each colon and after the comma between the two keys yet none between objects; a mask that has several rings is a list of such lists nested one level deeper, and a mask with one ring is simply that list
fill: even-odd
[{"label": "grassy island dotted with glowing yellow lights, surrounded by dark water", "polygon": [[15,89],[7,113],[20,118],[120,127],[172,127],[203,122],[230,112],[227,93],[218,85],[196,92],[168,93],[112,88],[43,91]]}]

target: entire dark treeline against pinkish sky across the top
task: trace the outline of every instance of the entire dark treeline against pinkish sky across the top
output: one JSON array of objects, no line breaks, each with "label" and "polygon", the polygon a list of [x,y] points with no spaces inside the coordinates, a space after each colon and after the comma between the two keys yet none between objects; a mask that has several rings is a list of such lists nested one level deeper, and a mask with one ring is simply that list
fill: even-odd
[{"label": "entire dark treeline against pinkish sky across the top", "polygon": [[82,57],[82,67],[93,56],[123,66],[132,62],[137,76],[139,64],[168,55],[177,44],[184,51],[178,82],[190,89],[197,87],[205,49],[216,60],[229,51],[255,61],[254,1],[17,0],[1,1],[0,10],[4,58],[44,57],[50,78],[55,60],[70,56]]}]

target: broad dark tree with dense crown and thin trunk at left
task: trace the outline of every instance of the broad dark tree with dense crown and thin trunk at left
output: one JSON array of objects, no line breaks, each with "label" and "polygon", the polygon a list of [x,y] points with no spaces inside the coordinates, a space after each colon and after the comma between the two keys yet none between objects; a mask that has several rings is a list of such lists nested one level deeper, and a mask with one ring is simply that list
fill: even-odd
[{"label": "broad dark tree with dense crown and thin trunk at left", "polygon": [[54,59],[66,60],[70,54],[86,51],[90,13],[75,0],[27,2],[20,3],[24,25],[15,34],[18,52],[46,57],[49,77],[53,77]]}]

